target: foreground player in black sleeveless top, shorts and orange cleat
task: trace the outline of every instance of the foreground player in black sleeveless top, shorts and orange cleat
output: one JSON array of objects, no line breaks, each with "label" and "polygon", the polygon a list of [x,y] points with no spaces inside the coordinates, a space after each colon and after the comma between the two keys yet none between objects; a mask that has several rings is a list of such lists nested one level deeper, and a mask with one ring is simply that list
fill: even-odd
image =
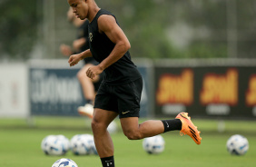
[{"label": "foreground player in black sleeveless top, shorts and orange cleat", "polygon": [[130,140],[139,140],[160,133],[180,130],[197,144],[202,138],[188,113],[179,113],[172,120],[148,120],[138,123],[143,80],[131,60],[131,47],[115,16],[101,9],[94,0],[67,0],[74,14],[89,24],[90,48],[69,57],[70,66],[85,57],[94,56],[98,65],[88,68],[86,74],[94,79],[105,73],[94,102],[92,129],[97,152],[103,167],[113,167],[113,141],[106,131],[109,123],[119,115],[123,133]]}]

